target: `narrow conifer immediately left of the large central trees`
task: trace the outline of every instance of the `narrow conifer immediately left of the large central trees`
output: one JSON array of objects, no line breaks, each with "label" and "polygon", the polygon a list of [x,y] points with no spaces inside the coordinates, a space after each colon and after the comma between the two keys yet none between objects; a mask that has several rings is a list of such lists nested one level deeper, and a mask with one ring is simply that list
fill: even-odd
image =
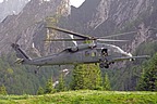
[{"label": "narrow conifer immediately left of the large central trees", "polygon": [[65,83],[64,83],[64,79],[63,79],[63,75],[62,75],[62,74],[60,75],[59,84],[58,84],[57,90],[58,90],[59,92],[65,91]]}]

